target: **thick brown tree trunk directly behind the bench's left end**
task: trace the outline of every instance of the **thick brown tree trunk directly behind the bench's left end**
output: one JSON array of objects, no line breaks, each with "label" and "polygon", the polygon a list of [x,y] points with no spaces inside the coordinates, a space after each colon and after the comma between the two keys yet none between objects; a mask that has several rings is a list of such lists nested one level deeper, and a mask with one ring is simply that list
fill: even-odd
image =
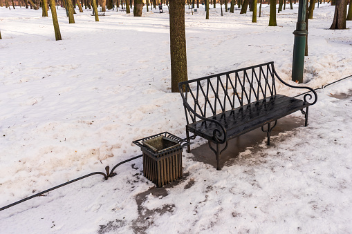
[{"label": "thick brown tree trunk directly behind the bench's left end", "polygon": [[[207,0],[209,3],[209,0]],[[171,89],[178,92],[178,83],[187,81],[185,34],[185,1],[170,0]]]}]

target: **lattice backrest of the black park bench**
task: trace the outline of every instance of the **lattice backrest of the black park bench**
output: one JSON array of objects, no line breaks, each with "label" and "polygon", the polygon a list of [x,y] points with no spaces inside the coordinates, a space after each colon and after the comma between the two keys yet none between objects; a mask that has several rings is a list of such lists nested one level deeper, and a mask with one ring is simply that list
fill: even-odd
[{"label": "lattice backrest of the black park bench", "polygon": [[178,84],[187,124],[276,95],[274,62]]}]

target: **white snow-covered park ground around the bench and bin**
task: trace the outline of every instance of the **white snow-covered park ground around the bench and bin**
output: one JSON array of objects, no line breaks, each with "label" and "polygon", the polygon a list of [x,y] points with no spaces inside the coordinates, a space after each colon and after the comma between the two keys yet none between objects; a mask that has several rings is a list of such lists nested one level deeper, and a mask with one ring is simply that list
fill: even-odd
[{"label": "white snow-covered park ground around the bench and bin", "polygon": [[[291,82],[297,5],[286,9],[268,27],[267,6],[258,23],[251,12],[221,17],[218,6],[205,20],[203,8],[186,8],[189,79],[275,61]],[[185,137],[170,92],[169,15],[109,11],[95,22],[76,11],[68,24],[57,10],[55,41],[41,10],[0,8],[0,207],[139,155],[135,139]],[[312,88],[352,75],[351,30],[327,30],[333,12],[322,4],[309,21]],[[0,233],[351,233],[352,98],[331,97],[351,90],[352,79],[318,90],[308,127],[270,147],[263,137],[221,171],[184,153],[183,179],[153,188],[136,159],[107,181],[95,175],[1,211]]]}]

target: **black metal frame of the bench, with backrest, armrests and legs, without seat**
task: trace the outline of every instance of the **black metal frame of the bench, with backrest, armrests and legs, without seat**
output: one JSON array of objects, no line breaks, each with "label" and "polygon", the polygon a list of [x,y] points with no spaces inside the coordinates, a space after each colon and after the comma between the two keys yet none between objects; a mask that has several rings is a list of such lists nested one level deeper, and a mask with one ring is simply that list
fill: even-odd
[{"label": "black metal frame of the bench, with backrest, armrests and legs, without seat", "polygon": [[[303,97],[306,105],[313,105],[317,102],[317,93],[313,88],[292,86],[283,81],[277,75],[273,61],[180,82],[178,88],[185,108],[187,141],[196,137],[195,133],[193,136],[189,136],[188,126],[190,123],[204,121],[205,123],[212,122],[216,124],[217,127],[212,133],[212,139],[209,140],[209,146],[216,155],[217,169],[219,170],[219,158],[223,150],[228,147],[228,140],[231,136],[228,136],[225,127],[214,116],[219,113],[225,113],[228,110],[241,109],[251,103],[260,105],[260,102],[265,102],[268,98],[271,99],[274,95],[277,95],[275,78],[281,84],[290,88],[308,89],[308,92],[304,93]],[[305,126],[307,126],[308,107],[306,107],[306,111],[304,111],[304,108],[301,111],[305,116]],[[261,127],[263,132],[267,133],[268,144],[270,144],[271,130],[277,124],[277,119],[273,119],[273,121],[275,121],[275,124],[272,127],[270,123],[263,123],[263,126],[268,124],[267,130],[264,130],[263,126]],[[212,148],[210,142],[216,144],[216,149]],[[219,144],[225,143],[225,148],[220,150]],[[190,152],[189,146],[187,146],[187,152]]]}]

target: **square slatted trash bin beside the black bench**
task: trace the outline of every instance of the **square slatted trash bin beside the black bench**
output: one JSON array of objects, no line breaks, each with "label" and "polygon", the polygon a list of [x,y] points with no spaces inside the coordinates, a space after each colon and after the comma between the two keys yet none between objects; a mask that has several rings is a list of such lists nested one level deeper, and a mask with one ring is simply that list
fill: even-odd
[{"label": "square slatted trash bin beside the black bench", "polygon": [[143,153],[143,175],[156,186],[182,177],[182,151],[189,142],[171,133],[159,133],[133,141]]}]

